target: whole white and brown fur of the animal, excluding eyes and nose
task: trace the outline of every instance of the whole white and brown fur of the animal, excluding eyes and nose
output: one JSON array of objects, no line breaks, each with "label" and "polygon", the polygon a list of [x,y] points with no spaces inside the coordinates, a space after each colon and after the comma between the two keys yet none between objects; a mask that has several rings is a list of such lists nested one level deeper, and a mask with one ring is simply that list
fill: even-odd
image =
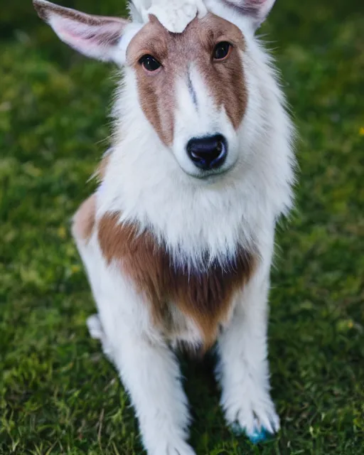
[{"label": "whole white and brown fur of the animal, excluding eyes and nose", "polygon": [[[183,0],[171,0],[180,3]],[[188,0],[191,3],[191,0]],[[193,455],[188,402],[173,349],[216,342],[228,424],[277,432],[269,396],[267,296],[277,219],[291,206],[293,129],[275,71],[255,36],[274,0],[206,0],[183,33],[156,16],[98,18],[34,0],[63,41],[124,67],[112,149],[73,235],[100,338],[135,407],[148,454]],[[211,58],[232,43],[224,61]],[[147,73],[144,54],[162,67]],[[186,154],[193,137],[229,144],[220,170]]]}]

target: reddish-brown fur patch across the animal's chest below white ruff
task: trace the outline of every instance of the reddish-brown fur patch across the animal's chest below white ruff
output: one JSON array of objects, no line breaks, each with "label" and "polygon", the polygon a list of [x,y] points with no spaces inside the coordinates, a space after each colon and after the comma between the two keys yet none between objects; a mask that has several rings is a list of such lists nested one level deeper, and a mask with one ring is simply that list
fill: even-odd
[{"label": "reddish-brown fur patch across the animal's chest below white ruff", "polygon": [[240,248],[235,262],[213,263],[203,272],[173,266],[171,256],[151,232],[137,234],[134,225],[118,223],[119,214],[104,215],[98,239],[107,262],[122,269],[151,304],[156,323],[171,323],[171,305],[193,319],[203,334],[205,348],[212,346],[219,325],[228,317],[235,292],[251,277],[256,257]]}]

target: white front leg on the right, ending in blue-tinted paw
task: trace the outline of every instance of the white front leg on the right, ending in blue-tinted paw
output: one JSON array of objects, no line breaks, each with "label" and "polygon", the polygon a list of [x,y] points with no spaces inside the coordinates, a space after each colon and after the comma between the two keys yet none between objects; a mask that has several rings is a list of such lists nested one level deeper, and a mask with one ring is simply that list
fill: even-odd
[{"label": "white front leg on the right, ending in blue-tinted paw", "polygon": [[269,395],[267,294],[270,260],[259,265],[239,296],[230,326],[218,342],[221,405],[228,424],[252,442],[279,430]]}]

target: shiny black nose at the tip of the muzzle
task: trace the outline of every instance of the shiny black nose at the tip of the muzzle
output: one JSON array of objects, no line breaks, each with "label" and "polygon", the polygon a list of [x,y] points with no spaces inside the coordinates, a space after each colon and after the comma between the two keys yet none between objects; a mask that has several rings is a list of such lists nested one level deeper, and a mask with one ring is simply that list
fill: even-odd
[{"label": "shiny black nose at the tip of the muzzle", "polygon": [[221,134],[191,139],[187,144],[187,154],[195,166],[208,171],[223,166],[228,154],[228,144]]}]

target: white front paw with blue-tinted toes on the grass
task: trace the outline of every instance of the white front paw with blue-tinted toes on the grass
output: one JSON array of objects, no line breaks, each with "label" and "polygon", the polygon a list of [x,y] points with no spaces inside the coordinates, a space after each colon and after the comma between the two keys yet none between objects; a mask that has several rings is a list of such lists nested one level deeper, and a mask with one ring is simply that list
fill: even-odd
[{"label": "white front paw with blue-tinted toes on the grass", "polygon": [[232,431],[245,433],[253,444],[279,431],[279,417],[269,393],[256,386],[226,392],[222,406]]}]

